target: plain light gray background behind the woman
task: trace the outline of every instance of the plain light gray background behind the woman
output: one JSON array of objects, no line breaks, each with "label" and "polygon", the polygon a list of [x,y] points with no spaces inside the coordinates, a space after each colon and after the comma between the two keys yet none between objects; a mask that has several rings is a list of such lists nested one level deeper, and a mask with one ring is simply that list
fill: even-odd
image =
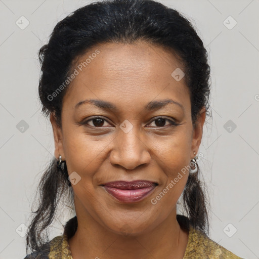
[{"label": "plain light gray background behind the woman", "polygon": [[[199,149],[211,204],[209,237],[241,257],[259,258],[259,2],[161,2],[190,19],[210,56],[212,120]],[[0,258],[25,256],[31,202],[54,155],[52,127],[37,100],[37,51],[58,21],[87,3],[0,0]],[[23,30],[16,25],[21,16],[29,21]],[[231,29],[229,16],[237,22]],[[21,120],[29,126],[24,132]],[[50,238],[63,232],[70,217],[61,214]]]}]

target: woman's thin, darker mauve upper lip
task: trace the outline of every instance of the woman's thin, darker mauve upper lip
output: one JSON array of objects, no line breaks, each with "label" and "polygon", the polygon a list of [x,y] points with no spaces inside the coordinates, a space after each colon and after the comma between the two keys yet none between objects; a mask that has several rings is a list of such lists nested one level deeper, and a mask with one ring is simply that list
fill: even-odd
[{"label": "woman's thin, darker mauve upper lip", "polygon": [[142,188],[148,188],[156,185],[158,185],[156,182],[151,182],[146,180],[136,180],[132,182],[115,181],[115,182],[109,182],[109,183],[103,184],[103,186],[117,188],[121,190],[142,189]]}]

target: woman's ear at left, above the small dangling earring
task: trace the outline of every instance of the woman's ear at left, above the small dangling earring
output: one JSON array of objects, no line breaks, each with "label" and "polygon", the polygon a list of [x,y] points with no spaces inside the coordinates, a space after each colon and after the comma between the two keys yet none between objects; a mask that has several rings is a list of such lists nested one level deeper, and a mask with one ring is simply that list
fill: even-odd
[{"label": "woman's ear at left, above the small dangling earring", "polygon": [[55,140],[55,157],[57,160],[59,159],[59,155],[62,156],[62,160],[65,160],[65,154],[63,150],[63,134],[62,134],[62,129],[60,126],[58,126],[54,112],[51,113],[50,115],[50,121],[52,124],[53,128],[53,135],[54,135],[54,140]]}]

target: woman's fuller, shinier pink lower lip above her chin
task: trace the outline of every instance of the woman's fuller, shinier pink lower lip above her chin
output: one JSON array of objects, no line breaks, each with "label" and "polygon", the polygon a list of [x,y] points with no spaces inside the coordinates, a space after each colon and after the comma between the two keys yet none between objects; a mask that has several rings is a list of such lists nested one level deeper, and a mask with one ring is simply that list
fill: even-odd
[{"label": "woman's fuller, shinier pink lower lip above her chin", "polygon": [[156,186],[151,186],[151,187],[142,188],[142,189],[134,189],[134,190],[121,190],[121,189],[112,188],[108,186],[104,186],[104,188],[109,194],[111,194],[120,202],[130,203],[130,202],[136,202],[144,199],[156,188]]}]

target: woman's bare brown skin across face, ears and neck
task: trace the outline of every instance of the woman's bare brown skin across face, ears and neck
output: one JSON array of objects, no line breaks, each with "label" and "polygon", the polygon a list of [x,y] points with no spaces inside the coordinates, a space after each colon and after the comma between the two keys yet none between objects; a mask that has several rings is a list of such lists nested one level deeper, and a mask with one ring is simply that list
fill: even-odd
[{"label": "woman's bare brown skin across face, ears and neck", "polygon": [[[72,80],[64,96],[62,127],[51,114],[55,156],[66,160],[69,175],[75,171],[81,177],[72,184],[78,221],[69,239],[73,259],[183,258],[188,233],[177,222],[176,204],[189,172],[155,205],[151,199],[197,154],[205,108],[193,128],[184,78],[176,81],[171,76],[181,62],[168,50],[143,41],[102,44],[80,56],[76,64],[96,49],[100,54]],[[74,109],[85,99],[109,101],[117,111],[89,103]],[[175,100],[184,109],[175,104],[144,109],[148,102],[163,99]],[[90,120],[96,115],[105,120]],[[159,124],[157,116],[165,120]],[[167,119],[179,125],[170,125]],[[119,127],[124,120],[133,125],[128,133]],[[82,121],[84,125],[78,124]],[[119,202],[101,186],[135,180],[158,186],[135,203]]]}]

